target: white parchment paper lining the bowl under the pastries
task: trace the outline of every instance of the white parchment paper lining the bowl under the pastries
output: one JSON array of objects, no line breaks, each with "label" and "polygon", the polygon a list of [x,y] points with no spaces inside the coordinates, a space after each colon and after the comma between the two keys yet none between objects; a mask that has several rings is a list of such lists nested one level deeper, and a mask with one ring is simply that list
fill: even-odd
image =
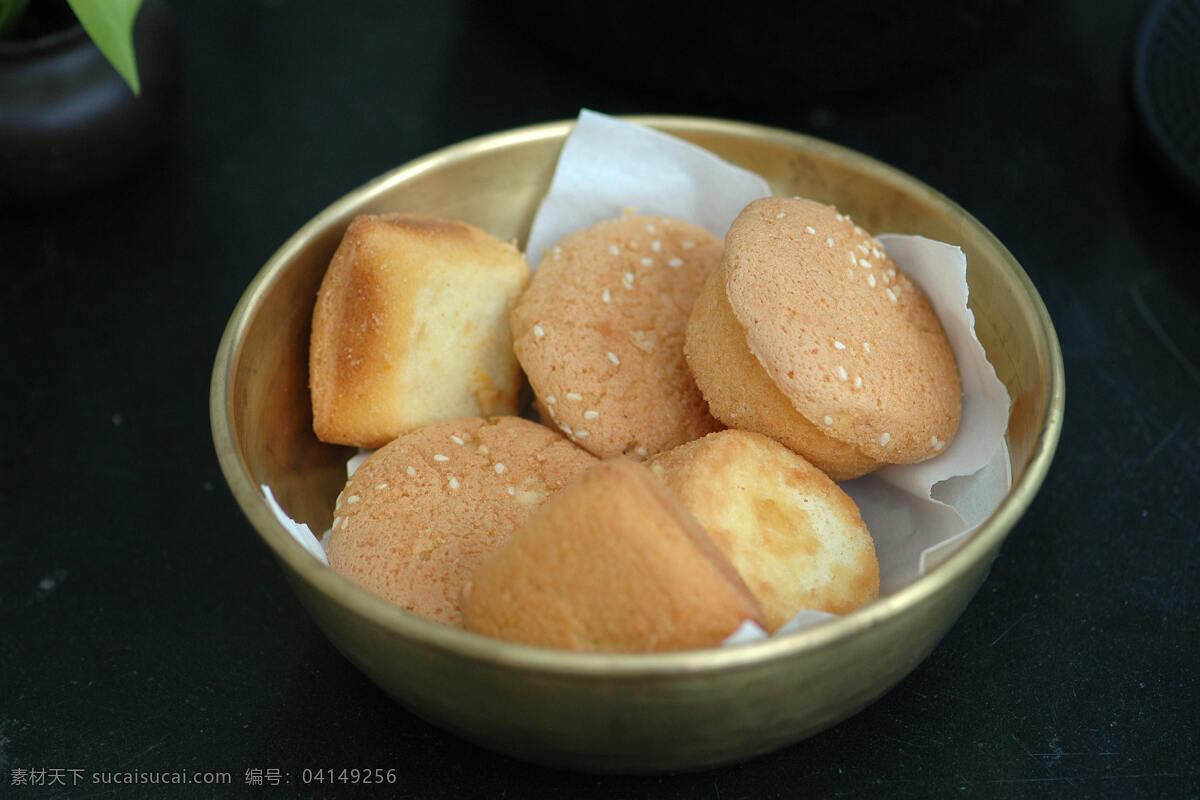
[{"label": "white parchment paper lining the bowl under the pastries", "polygon": [[[565,235],[631,209],[684,219],[724,239],[742,209],[769,194],[761,176],[707,150],[584,109],[564,143],[552,185],[534,218],[527,258],[536,269],[542,253]],[[880,594],[887,595],[953,553],[1000,505],[1012,487],[1012,474],[1004,444],[1009,397],[974,333],[962,251],[922,236],[876,237],[937,312],[954,349],[964,391],[962,420],[946,452],[841,485],[858,504],[875,540]],[[361,458],[360,453],[352,459],[349,471]],[[264,491],[274,503],[270,489]],[[325,554],[318,552],[319,542],[307,527],[296,525],[275,507],[298,541],[324,561]],[[830,618],[823,612],[800,612],[776,634]],[[762,628],[748,622],[726,643],[763,636]]]}]

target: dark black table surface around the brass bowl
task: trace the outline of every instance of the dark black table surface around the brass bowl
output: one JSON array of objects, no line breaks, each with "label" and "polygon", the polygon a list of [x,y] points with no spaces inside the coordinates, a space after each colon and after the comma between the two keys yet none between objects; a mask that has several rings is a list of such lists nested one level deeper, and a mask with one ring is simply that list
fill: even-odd
[{"label": "dark black table surface around the brass bowl", "polygon": [[[923,71],[774,96],[774,76],[710,43],[622,50],[640,80],[586,40],[523,36],[523,6],[349,5],[175,2],[166,149],[115,186],[0,217],[0,795],[186,770],[233,783],[163,794],[336,796],[352,788],[301,771],[352,766],[395,769],[408,798],[1200,795],[1200,205],[1130,101],[1147,2],[1009,4],[974,40],[943,17],[911,41]],[[839,37],[870,59],[872,18],[844,5]],[[739,41],[746,11],[709,32]],[[725,83],[684,85],[665,67],[686,58]],[[1008,246],[1062,343],[1054,465],[949,634],[851,720],[724,769],[557,771],[406,712],[310,621],[211,444],[222,327],[288,235],[404,161],[580,107],[751,120],[889,162]],[[14,784],[25,770],[68,786]]]}]

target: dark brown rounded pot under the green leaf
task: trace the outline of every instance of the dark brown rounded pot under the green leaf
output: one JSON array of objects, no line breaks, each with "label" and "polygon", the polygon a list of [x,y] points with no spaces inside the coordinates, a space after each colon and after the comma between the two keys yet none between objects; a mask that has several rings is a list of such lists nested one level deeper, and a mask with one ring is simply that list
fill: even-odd
[{"label": "dark brown rounded pot under the green leaf", "polygon": [[179,40],[162,2],[146,0],[134,24],[137,97],[70,11],[56,19],[0,41],[0,207],[46,206],[112,184],[160,150],[175,116]]}]

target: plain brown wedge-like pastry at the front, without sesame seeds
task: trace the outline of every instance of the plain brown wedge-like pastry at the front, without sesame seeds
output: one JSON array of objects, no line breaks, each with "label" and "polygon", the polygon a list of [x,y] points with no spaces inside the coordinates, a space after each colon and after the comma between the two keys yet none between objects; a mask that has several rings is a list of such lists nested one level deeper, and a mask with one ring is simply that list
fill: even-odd
[{"label": "plain brown wedge-like pastry at the front, without sesame seeds", "polygon": [[602,461],[475,570],[467,630],[570,650],[720,644],[758,604],[700,523],[644,465]]}]

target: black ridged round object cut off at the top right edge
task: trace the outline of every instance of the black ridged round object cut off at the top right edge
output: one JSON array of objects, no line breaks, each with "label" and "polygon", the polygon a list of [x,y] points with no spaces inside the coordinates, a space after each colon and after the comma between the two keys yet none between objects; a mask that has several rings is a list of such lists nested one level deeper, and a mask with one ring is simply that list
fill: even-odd
[{"label": "black ridged round object cut off at the top right edge", "polygon": [[1159,160],[1200,201],[1200,0],[1159,0],[1146,13],[1133,94]]}]

